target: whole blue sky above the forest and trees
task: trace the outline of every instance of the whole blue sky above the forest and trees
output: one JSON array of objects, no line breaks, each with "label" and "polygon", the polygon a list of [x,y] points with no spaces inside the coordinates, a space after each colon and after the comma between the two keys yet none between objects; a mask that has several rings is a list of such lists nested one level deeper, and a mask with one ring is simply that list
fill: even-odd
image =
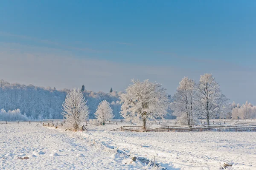
[{"label": "whole blue sky above the forest and trees", "polygon": [[[11,67],[15,57],[24,63],[15,67],[23,73],[0,70],[0,75],[57,88],[85,84],[95,91],[108,91],[108,86],[123,91],[131,78],[149,78],[173,94],[184,76],[198,81],[207,72],[230,100],[256,103],[255,9],[254,0],[3,1],[1,68]],[[36,70],[41,77],[29,75],[33,61],[41,59],[48,59]],[[64,81],[58,78],[64,77],[61,61],[73,61],[74,68],[86,61],[94,65],[81,66],[84,79]],[[44,69],[50,63],[57,75],[48,79]]]}]

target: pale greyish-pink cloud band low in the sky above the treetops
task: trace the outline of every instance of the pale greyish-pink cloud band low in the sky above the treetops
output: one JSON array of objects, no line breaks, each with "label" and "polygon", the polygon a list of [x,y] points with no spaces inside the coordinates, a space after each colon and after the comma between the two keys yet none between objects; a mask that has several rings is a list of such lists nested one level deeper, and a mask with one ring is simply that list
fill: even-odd
[{"label": "pale greyish-pink cloud band low in the sky above the treetops", "polygon": [[[54,48],[36,48],[0,42],[0,79],[22,84],[55,88],[80,87],[93,91],[108,91],[110,87],[123,91],[130,79],[150,79],[163,84],[173,94],[184,76],[198,81],[201,74],[212,73],[224,94],[236,102],[256,100],[256,72],[188,69],[171,66],[147,66],[76,58],[72,52]],[[209,67],[212,67],[209,65]],[[246,87],[246,88],[244,88]],[[235,92],[235,93],[234,93]]]}]

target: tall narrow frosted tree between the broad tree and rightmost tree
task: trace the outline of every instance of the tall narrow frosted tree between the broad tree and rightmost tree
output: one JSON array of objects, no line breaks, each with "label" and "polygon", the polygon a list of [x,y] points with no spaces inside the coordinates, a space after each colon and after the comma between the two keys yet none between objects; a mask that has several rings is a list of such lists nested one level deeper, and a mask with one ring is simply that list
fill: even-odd
[{"label": "tall narrow frosted tree between the broad tree and rightmost tree", "polygon": [[[195,82],[188,77],[184,77],[177,87],[177,90],[173,96],[174,102],[171,104],[171,108],[174,111],[173,115],[178,119],[182,119],[187,125],[193,125],[195,120]],[[194,113],[194,115],[193,115]]]}]

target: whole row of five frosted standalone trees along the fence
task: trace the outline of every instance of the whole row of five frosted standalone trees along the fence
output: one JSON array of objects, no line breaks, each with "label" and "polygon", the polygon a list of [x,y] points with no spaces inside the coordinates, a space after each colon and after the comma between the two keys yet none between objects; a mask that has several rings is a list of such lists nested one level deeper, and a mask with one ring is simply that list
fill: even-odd
[{"label": "whole row of five frosted standalone trees along the fence", "polygon": [[[169,107],[174,111],[174,115],[185,121],[186,125],[193,125],[200,118],[207,119],[207,125],[209,125],[209,119],[227,113],[231,109],[227,104],[228,99],[222,94],[218,82],[215,81],[212,74],[201,75],[198,84],[194,80],[184,77],[173,96],[173,102],[170,102],[169,96],[165,92],[166,89],[157,82],[149,82],[148,79],[144,82],[132,79],[131,82],[133,84],[128,86],[125,93],[120,96],[120,113],[129,122],[142,120],[144,129],[148,119],[164,118]],[[80,93],[80,96],[75,95],[75,93]],[[80,91],[73,90],[70,91],[70,94],[79,96],[79,101],[84,101]],[[71,100],[70,94],[67,95],[63,104],[63,115],[69,122],[73,122],[69,115],[73,114],[75,119],[79,113],[79,108],[73,108],[75,104],[71,107],[68,101],[75,101],[75,103],[79,101]],[[81,104],[81,106],[83,105],[85,104]],[[81,109],[79,115],[86,119],[84,113],[87,114],[88,108],[83,107],[84,109]],[[95,114],[97,118],[103,120],[102,124],[104,125],[106,119],[111,119],[112,116],[107,116],[107,113],[111,112],[112,109],[109,104],[103,101]]]}]

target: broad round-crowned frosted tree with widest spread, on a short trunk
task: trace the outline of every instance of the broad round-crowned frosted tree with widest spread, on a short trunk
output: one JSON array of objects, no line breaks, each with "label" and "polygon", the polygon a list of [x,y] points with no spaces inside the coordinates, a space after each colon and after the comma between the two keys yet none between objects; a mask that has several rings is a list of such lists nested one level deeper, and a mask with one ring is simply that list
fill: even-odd
[{"label": "broad round-crowned frosted tree with widest spread, on a short trunk", "polygon": [[121,116],[126,121],[142,119],[145,129],[148,119],[163,118],[168,113],[166,89],[159,83],[149,82],[148,79],[144,82],[132,79],[131,82],[133,85],[120,96]]}]

